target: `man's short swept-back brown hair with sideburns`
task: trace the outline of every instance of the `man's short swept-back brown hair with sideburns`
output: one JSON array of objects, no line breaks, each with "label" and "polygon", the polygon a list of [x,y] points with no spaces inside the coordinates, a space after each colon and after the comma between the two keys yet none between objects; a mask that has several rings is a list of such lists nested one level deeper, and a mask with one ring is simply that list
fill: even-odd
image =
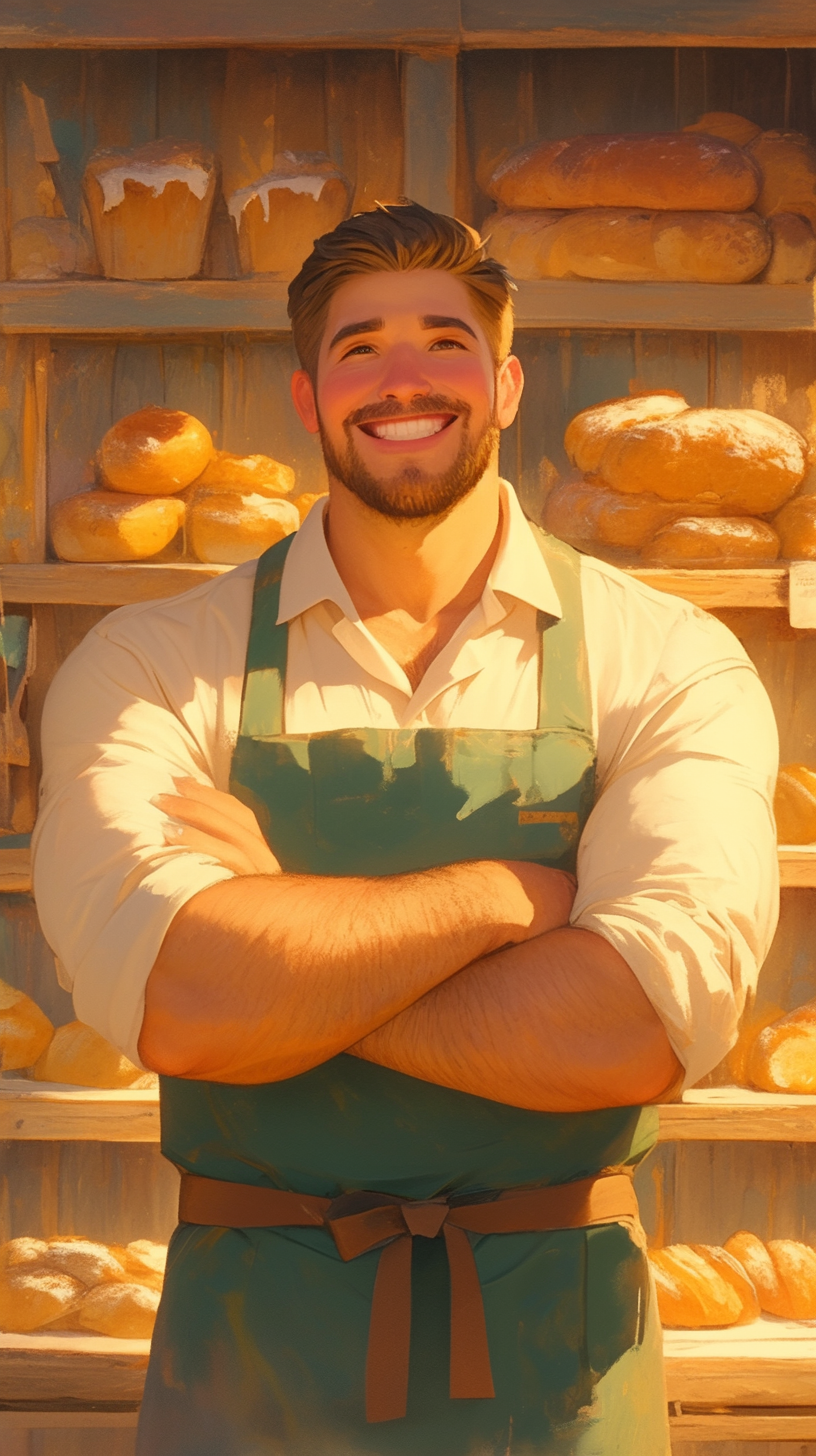
[{"label": "man's short swept-back brown hair with sideburns", "polygon": [[513,284],[487,256],[479,234],[420,202],[377,202],[323,233],[289,285],[289,316],[300,364],[315,379],[332,296],[360,274],[439,268],[471,293],[493,357],[501,364],[513,342]]}]

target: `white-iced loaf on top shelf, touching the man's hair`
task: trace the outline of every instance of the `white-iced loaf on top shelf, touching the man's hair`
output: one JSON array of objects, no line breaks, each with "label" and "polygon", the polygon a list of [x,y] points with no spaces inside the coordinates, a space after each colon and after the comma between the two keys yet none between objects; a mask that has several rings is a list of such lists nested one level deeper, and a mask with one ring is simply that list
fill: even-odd
[{"label": "white-iced loaf on top shelf, touching the man's hair", "polygon": [[229,199],[243,272],[294,278],[315,239],[348,215],[351,183],[323,153],[281,151]]}]

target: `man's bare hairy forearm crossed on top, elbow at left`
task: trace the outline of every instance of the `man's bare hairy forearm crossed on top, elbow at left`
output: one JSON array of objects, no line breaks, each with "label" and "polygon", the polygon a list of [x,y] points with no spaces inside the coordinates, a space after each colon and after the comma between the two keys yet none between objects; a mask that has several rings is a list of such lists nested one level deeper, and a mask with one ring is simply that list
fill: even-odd
[{"label": "man's bare hairy forearm crossed on top, elbow at left", "polygon": [[[570,901],[565,887],[565,914]],[[213,885],[165,936],[147,981],[141,1057],[168,1075],[221,1082],[294,1076],[522,939],[535,919],[519,875],[493,862]]]}]

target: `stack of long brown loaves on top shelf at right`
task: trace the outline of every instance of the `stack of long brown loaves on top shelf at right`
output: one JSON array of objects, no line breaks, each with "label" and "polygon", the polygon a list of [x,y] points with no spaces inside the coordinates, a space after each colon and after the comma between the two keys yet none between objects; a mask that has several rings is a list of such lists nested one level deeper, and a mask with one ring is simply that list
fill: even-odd
[{"label": "stack of long brown loaves on top shelf at right", "polygon": [[516,278],[803,282],[816,149],[708,112],[683,131],[539,141],[503,157],[484,234]]}]

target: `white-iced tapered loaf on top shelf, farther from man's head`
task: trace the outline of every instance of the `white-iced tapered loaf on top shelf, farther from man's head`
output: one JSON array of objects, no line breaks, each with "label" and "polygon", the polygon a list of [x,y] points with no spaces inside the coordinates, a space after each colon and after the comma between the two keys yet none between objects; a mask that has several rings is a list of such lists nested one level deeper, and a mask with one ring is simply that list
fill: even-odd
[{"label": "white-iced tapered loaf on top shelf, farther from man's head", "polygon": [[106,278],[192,278],[201,269],[216,197],[205,147],[150,141],[96,151],[83,188]]}]

